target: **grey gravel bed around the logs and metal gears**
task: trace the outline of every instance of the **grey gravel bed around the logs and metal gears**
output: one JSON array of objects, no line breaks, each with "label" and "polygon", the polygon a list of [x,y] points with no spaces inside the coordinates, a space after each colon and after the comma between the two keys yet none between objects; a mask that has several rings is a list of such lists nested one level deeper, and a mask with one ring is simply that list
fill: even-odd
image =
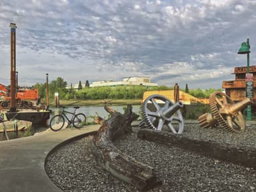
[{"label": "grey gravel bed around the logs and metal gears", "polygon": [[[256,170],[184,151],[177,147],[137,139],[136,131],[115,141],[127,155],[151,165],[163,182],[150,191],[256,191]],[[256,127],[244,133],[201,129],[185,125],[184,137],[213,140],[256,148]],[[92,137],[73,141],[52,153],[45,165],[47,174],[63,191],[137,191],[101,169],[90,153]]]}]

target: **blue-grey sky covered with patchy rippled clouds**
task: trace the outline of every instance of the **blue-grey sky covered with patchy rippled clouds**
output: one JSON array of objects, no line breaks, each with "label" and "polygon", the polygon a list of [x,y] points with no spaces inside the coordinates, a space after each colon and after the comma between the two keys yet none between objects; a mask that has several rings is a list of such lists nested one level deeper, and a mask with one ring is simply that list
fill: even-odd
[{"label": "blue-grey sky covered with patchy rippled clouds", "polygon": [[150,77],[185,89],[219,89],[256,61],[256,0],[1,0],[0,83],[10,84],[16,23],[19,85]]}]

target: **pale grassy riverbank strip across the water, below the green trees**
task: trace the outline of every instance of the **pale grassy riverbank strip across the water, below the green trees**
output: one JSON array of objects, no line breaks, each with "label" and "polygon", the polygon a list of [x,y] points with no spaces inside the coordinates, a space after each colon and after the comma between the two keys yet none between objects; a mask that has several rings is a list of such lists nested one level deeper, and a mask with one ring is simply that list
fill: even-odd
[{"label": "pale grassy riverbank strip across the water, below the green trees", "polygon": [[[86,106],[86,105],[103,105],[106,101],[110,101],[111,105],[141,105],[141,99],[99,99],[99,100],[60,100],[62,106]],[[55,106],[55,102],[49,103],[50,106]]]}]

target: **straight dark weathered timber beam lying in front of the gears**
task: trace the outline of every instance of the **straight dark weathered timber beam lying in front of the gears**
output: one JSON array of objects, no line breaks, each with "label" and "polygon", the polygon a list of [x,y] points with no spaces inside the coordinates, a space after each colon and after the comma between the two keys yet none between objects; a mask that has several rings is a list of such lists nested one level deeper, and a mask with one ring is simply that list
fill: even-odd
[{"label": "straight dark weathered timber beam lying in front of the gears", "polygon": [[172,134],[167,131],[156,131],[153,129],[140,129],[137,136],[139,139],[180,147],[222,161],[229,161],[246,167],[256,168],[255,147],[235,147],[231,144],[190,139],[183,137],[182,135]]}]

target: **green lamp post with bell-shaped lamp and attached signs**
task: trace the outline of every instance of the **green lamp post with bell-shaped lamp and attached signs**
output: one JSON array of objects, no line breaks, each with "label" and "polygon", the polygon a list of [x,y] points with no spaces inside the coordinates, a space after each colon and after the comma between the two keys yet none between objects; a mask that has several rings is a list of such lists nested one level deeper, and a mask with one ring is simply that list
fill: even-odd
[{"label": "green lamp post with bell-shaped lamp and attached signs", "polygon": [[[251,53],[250,51],[250,44],[249,44],[249,39],[247,39],[247,42],[243,42],[241,44],[241,47],[238,51],[238,54],[247,54],[247,73],[250,73],[250,64],[249,64],[249,53]],[[251,84],[251,82],[247,82],[246,83],[246,87],[245,87],[245,97],[253,97],[253,83]],[[251,86],[252,85],[252,86]],[[251,94],[248,93],[248,88],[247,86],[251,86]],[[246,120],[251,120],[251,105],[247,106],[247,115],[246,115]]]}]

